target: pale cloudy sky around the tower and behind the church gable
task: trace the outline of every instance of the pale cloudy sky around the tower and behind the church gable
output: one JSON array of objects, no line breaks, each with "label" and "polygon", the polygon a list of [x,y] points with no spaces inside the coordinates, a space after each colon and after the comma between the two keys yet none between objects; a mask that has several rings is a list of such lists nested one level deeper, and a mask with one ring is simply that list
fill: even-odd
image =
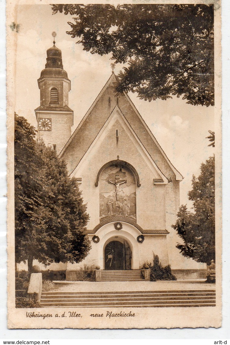
[{"label": "pale cloudy sky around the tower and behind the church gable", "polygon": [[[111,75],[110,55],[92,55],[83,51],[66,31],[72,16],[52,15],[50,5],[16,6],[15,18],[20,25],[16,41],[15,111],[36,126],[34,109],[40,105],[37,79],[45,67],[46,50],[53,43],[52,31],[57,32],[56,46],[62,51],[64,70],[71,80],[69,107],[74,111],[77,127]],[[114,70],[118,74],[122,65]],[[180,183],[180,204],[192,207],[188,200],[191,179],[198,177],[200,165],[214,153],[208,147],[208,130],[214,131],[214,107],[192,106],[176,98],[166,101],[144,101],[136,93],[129,97],[146,121],[160,146],[184,179]]]}]

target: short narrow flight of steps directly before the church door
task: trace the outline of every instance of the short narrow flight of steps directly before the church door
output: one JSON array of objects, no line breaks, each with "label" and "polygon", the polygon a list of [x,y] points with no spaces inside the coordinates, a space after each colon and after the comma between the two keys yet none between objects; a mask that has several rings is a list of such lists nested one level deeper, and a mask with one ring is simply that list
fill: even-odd
[{"label": "short narrow flight of steps directly before the church door", "polygon": [[130,270],[102,270],[101,281],[102,282],[122,282],[122,281],[137,281],[144,280],[144,276],[139,269]]}]

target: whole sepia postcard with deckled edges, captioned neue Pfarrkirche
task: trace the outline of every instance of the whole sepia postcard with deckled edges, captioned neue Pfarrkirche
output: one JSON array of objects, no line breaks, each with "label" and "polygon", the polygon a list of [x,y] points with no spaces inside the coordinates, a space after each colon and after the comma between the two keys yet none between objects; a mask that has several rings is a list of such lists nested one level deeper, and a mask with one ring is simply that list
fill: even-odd
[{"label": "whole sepia postcard with deckled edges, captioned neue Pfarrkirche", "polygon": [[221,326],[220,4],[168,2],[8,3],[9,328]]}]

